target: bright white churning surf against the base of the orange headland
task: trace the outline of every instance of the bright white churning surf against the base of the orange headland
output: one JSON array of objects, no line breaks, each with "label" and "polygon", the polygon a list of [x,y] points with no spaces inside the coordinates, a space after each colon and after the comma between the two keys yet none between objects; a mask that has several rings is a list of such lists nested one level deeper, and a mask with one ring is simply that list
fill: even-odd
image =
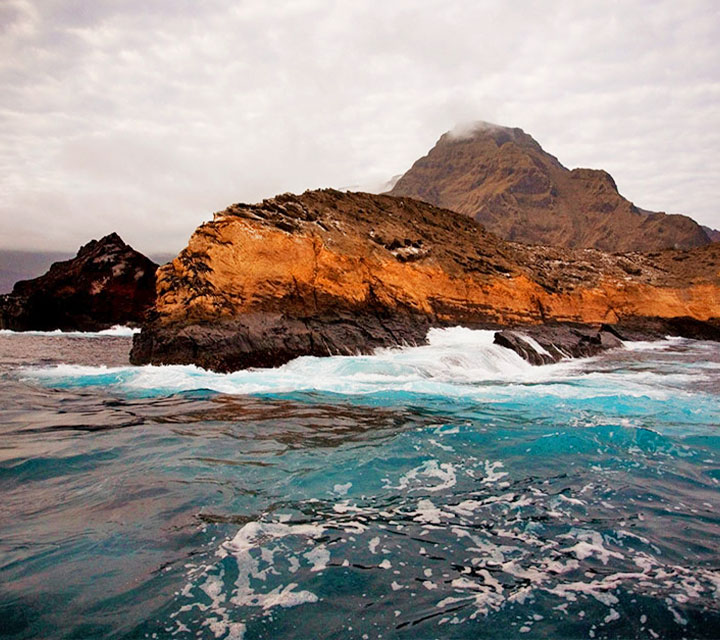
[{"label": "bright white churning surf against the base of the orange headland", "polygon": [[325,391],[366,394],[474,393],[490,381],[539,382],[576,367],[562,363],[533,367],[513,351],[493,344],[494,332],[433,329],[421,347],[381,349],[368,356],[301,357],[274,369],[214,373],[192,365],[27,368],[23,375],[58,386],[116,385],[128,391],[180,392],[208,389],[256,394]]}]

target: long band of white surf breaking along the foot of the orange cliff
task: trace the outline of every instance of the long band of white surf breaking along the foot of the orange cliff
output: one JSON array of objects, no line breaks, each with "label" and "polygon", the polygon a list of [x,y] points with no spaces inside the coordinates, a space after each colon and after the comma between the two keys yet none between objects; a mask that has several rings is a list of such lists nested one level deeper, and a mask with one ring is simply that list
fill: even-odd
[{"label": "long band of white surf breaking along the foot of the orange cliff", "polygon": [[[130,331],[130,330],[129,330]],[[193,365],[89,367],[57,365],[22,370],[50,386],[115,386],[128,393],[209,390],[246,395],[317,391],[343,395],[403,393],[504,402],[538,395],[589,399],[614,396],[666,400],[702,371],[588,372],[592,360],[532,366],[493,344],[494,332],[432,329],[428,344],[380,349],[367,356],[301,357],[274,369],[215,373]],[[672,341],[671,341],[672,342]],[[662,343],[666,344],[666,343]],[[669,344],[669,343],[668,343]]]}]

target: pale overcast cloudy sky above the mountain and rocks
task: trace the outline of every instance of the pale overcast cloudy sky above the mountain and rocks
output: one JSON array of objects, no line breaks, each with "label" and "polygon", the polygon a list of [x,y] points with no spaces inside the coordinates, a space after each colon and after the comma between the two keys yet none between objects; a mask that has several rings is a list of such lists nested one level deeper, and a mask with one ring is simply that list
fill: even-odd
[{"label": "pale overcast cloudy sky above the mountain and rocks", "polygon": [[0,0],[0,248],[176,252],[476,120],[720,228],[720,2]]}]

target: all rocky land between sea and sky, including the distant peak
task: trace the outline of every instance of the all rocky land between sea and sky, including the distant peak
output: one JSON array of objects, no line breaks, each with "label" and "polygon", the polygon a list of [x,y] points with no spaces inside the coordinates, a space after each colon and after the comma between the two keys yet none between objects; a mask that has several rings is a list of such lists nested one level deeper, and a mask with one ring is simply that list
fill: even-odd
[{"label": "all rocky land between sea and sky, including the distant peak", "polygon": [[720,340],[711,232],[639,209],[609,174],[567,169],[521,129],[478,123],[443,135],[388,194],[234,204],[161,268],[117,234],[93,240],[0,296],[0,329],[141,326],[133,364],[228,372],[464,326],[547,364],[626,340]]}]

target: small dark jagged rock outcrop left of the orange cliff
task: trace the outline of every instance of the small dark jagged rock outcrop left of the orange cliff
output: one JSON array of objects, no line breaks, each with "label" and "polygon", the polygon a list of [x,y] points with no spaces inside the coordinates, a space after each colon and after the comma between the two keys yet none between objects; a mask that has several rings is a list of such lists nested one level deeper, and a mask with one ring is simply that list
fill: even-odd
[{"label": "small dark jagged rock outcrop left of the orange cliff", "polygon": [[72,260],[0,296],[0,328],[99,331],[138,325],[155,302],[157,265],[116,233],[92,240]]}]

